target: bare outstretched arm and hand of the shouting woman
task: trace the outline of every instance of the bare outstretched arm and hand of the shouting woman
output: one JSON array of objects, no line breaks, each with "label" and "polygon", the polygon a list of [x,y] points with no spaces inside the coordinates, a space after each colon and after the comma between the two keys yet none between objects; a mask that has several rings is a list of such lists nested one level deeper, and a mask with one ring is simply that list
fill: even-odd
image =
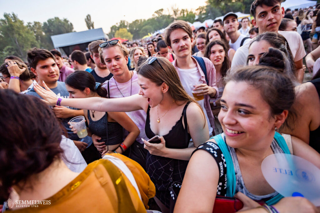
[{"label": "bare outstretched arm and hand of the shouting woman", "polygon": [[[56,105],[58,98],[49,87],[43,82],[44,88],[35,84],[34,89],[46,103],[49,105]],[[60,105],[74,107],[78,109],[96,110],[100,112],[130,112],[135,110],[147,110],[148,102],[141,95],[132,95],[124,98],[64,98]]]}]

